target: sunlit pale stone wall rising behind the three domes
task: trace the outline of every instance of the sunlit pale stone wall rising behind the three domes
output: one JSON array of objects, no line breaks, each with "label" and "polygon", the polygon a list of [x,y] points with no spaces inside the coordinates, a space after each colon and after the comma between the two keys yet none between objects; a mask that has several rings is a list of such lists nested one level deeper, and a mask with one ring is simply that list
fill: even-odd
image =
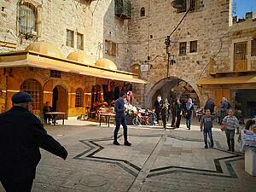
[{"label": "sunlit pale stone wall rising behind the three domes", "polygon": [[[1,0],[0,41],[15,43],[17,49],[0,46],[0,53],[25,49],[34,41],[47,41],[55,44],[64,55],[76,49],[76,32],[84,34],[84,52],[94,60],[107,57],[113,60],[120,70],[129,71],[128,24],[114,15],[114,1],[55,1],[55,0],[24,0],[38,9],[38,38],[26,40],[17,32],[17,0]],[[67,29],[75,32],[74,48],[66,46]],[[118,56],[104,53],[104,40],[118,44]],[[128,64],[127,64],[128,63]]]}]

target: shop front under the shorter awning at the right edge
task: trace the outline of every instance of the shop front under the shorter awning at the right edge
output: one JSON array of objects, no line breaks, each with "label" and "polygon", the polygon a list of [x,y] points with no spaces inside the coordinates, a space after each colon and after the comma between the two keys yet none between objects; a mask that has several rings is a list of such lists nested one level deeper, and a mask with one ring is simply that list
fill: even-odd
[{"label": "shop front under the shorter awning at the right edge", "polygon": [[201,91],[209,93],[217,106],[226,97],[235,111],[240,110],[243,118],[256,115],[256,75],[200,79]]}]

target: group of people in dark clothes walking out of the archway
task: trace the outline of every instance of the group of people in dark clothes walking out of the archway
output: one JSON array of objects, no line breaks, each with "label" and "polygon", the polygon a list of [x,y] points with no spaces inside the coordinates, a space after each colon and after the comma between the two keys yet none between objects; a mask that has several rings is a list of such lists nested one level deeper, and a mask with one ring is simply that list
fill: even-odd
[{"label": "group of people in dark clothes walking out of the archway", "polygon": [[162,120],[165,129],[169,115],[172,113],[172,128],[179,128],[181,117],[184,115],[187,128],[190,130],[191,121],[195,113],[195,105],[191,98],[184,104],[180,102],[179,98],[170,104],[167,99],[162,102],[161,96],[157,96],[157,100],[154,102],[154,111],[156,113],[157,121],[159,122],[159,120]]}]

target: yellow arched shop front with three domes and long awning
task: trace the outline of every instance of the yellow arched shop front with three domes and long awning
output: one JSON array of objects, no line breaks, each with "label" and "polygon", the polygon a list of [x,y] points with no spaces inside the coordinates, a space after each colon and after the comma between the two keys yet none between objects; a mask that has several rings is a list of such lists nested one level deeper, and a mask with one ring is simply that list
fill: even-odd
[{"label": "yellow arched shop front with three domes and long awning", "polygon": [[24,90],[32,95],[38,116],[45,102],[66,113],[66,118],[78,116],[96,102],[111,102],[114,93],[133,83],[147,82],[137,74],[119,71],[108,59],[94,63],[83,51],[64,58],[53,44],[37,42],[23,51],[0,54],[0,113],[12,107],[15,92]]}]

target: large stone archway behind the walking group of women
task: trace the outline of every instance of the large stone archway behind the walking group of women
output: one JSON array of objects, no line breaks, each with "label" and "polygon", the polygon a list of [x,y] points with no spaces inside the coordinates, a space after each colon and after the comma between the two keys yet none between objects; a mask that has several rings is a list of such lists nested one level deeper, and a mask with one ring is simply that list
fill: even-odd
[{"label": "large stone archway behind the walking group of women", "polygon": [[154,108],[154,101],[158,95],[160,95],[163,99],[174,99],[175,97],[185,99],[187,97],[192,97],[192,99],[197,102],[197,105],[200,106],[201,95],[197,87],[193,87],[192,84],[189,84],[185,80],[177,77],[161,79],[148,90],[149,91],[146,94],[147,98],[145,100],[146,108]]}]

